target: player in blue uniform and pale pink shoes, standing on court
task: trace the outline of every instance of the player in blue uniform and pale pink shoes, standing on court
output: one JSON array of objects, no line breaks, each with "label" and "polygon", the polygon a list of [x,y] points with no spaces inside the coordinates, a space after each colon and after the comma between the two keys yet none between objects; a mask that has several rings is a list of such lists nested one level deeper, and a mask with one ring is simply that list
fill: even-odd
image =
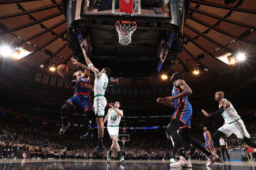
[{"label": "player in blue uniform and pale pink shoes, standing on court", "polygon": [[[192,167],[190,160],[187,158],[184,145],[182,143],[182,138],[193,144],[198,149],[203,151],[208,157],[209,165],[213,164],[218,158],[214,153],[207,151],[199,141],[192,137],[189,133],[190,131],[190,120],[192,116],[192,107],[188,102],[188,96],[192,94],[192,90],[183,80],[184,76],[182,73],[173,73],[170,81],[173,83],[172,96],[165,98],[157,98],[158,103],[164,103],[167,106],[174,107],[175,111],[172,114],[171,124],[168,128],[170,135],[174,141],[175,147],[180,154],[180,161],[170,164],[172,168],[181,167]],[[177,130],[180,128],[182,138],[180,137]]]}]

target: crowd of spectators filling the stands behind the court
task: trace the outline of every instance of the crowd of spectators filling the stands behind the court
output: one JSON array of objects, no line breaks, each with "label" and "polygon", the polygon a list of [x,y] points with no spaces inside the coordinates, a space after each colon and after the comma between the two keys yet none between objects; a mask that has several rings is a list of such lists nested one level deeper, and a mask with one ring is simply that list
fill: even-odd
[{"label": "crowd of spectators filling the stands behind the court", "polygon": [[[105,131],[106,151],[99,155],[92,155],[91,152],[97,144],[97,130],[94,131],[95,137],[93,139],[84,141],[80,139],[80,136],[85,132],[80,130],[67,130],[64,135],[60,136],[58,134],[59,128],[9,121],[1,121],[0,124],[0,152],[3,158],[10,158],[11,153],[15,152],[14,150],[21,150],[29,151],[32,159],[106,159],[107,151],[112,144],[112,139]],[[252,140],[256,141],[255,123],[245,123],[245,126]],[[209,128],[208,130],[213,135],[217,128]],[[125,158],[131,160],[170,159],[173,155],[172,149],[170,149],[172,144],[166,138],[164,131],[130,135],[130,141],[125,143]],[[199,131],[199,129],[192,130],[191,134],[204,145],[203,129],[201,133]],[[229,137],[227,142],[229,150],[242,149],[245,144],[236,136]],[[123,144],[121,142],[119,145],[122,148]],[[202,151],[190,146],[187,142],[184,143],[184,146],[190,159],[206,159]],[[254,148],[245,146],[244,154],[241,156],[243,160],[254,160],[254,154]],[[15,157],[14,155],[12,158]],[[178,155],[176,155],[176,158],[178,158]],[[119,159],[116,152],[112,152],[111,159]]]}]

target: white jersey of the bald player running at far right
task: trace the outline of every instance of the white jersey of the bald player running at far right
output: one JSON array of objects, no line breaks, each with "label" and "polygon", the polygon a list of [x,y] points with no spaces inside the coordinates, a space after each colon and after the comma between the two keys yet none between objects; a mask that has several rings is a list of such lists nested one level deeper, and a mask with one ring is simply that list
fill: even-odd
[{"label": "white jersey of the bald player running at far right", "polygon": [[[222,99],[222,100],[227,100],[227,99]],[[220,108],[220,105],[219,105],[219,108]],[[241,118],[237,114],[236,109],[233,107],[233,105],[230,102],[229,102],[229,107],[224,110],[222,116],[226,123],[232,123],[232,122],[235,122],[237,119]]]}]

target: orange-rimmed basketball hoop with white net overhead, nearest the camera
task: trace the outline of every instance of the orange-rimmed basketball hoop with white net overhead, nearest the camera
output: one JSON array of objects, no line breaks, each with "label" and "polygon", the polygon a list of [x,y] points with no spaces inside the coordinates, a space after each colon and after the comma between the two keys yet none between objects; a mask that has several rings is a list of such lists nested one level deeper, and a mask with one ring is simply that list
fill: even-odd
[{"label": "orange-rimmed basketball hoop with white net overhead, nearest the camera", "polygon": [[117,21],[116,31],[119,35],[119,43],[126,46],[130,44],[132,33],[136,28],[137,24],[135,21]]}]

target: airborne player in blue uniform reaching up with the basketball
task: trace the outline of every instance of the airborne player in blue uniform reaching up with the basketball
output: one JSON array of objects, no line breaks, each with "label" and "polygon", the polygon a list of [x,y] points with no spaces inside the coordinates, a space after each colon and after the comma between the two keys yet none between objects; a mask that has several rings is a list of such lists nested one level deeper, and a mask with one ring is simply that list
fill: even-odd
[{"label": "airborne player in blue uniform reaching up with the basketball", "polygon": [[65,133],[66,129],[70,126],[70,123],[67,122],[68,110],[75,109],[78,106],[81,106],[85,112],[87,118],[91,120],[91,126],[96,126],[96,117],[92,111],[90,92],[93,90],[93,87],[90,85],[90,69],[82,63],[77,62],[74,58],[71,58],[73,64],[81,66],[85,72],[78,70],[76,71],[76,80],[70,82],[68,78],[64,76],[61,72],[61,69],[58,69],[58,73],[62,76],[65,83],[70,86],[76,87],[75,94],[72,98],[68,99],[66,103],[61,107],[61,117],[62,117],[62,127],[60,129],[60,134]]}]

